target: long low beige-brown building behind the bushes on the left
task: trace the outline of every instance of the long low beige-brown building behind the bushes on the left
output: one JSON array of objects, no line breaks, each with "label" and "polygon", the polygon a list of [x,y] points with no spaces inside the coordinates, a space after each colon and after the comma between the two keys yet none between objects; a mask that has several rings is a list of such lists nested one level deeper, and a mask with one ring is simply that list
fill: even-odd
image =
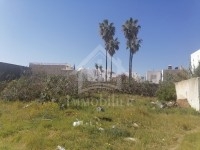
[{"label": "long low beige-brown building behind the bushes on the left", "polygon": [[45,73],[47,75],[68,75],[74,71],[74,67],[69,64],[57,63],[30,63],[29,68],[32,73]]}]

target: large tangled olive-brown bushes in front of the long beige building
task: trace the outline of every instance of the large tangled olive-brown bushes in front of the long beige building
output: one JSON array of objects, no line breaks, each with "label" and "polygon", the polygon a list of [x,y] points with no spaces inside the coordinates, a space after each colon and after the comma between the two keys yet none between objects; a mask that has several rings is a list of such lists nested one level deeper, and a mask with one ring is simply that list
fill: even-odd
[{"label": "large tangled olive-brown bushes in front of the long beige building", "polygon": [[4,100],[42,101],[59,100],[60,97],[77,95],[77,77],[46,76],[33,74],[13,80],[8,84],[0,84],[1,97]]}]

